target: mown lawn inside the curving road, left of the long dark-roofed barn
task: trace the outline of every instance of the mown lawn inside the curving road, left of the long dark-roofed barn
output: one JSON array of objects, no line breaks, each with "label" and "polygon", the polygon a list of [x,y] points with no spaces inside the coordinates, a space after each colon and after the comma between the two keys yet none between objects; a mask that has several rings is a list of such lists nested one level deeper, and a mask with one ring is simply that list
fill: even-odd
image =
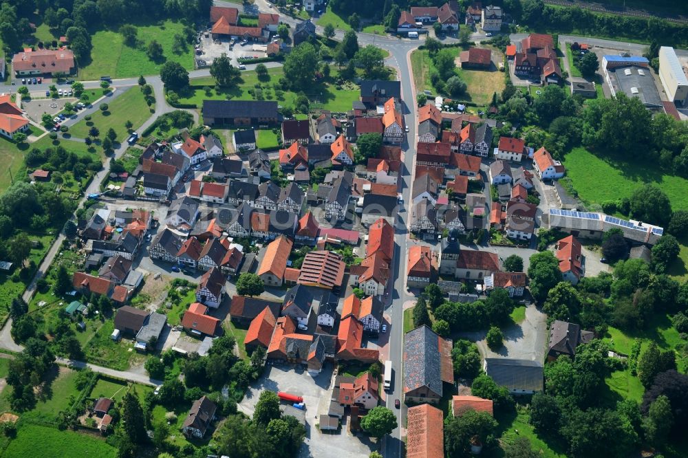
[{"label": "mown lawn inside the curving road, left of the long dark-roofed barn", "polygon": [[131,121],[133,128],[136,129],[151,116],[143,93],[138,87],[124,90],[124,94],[107,104],[107,111],[98,110],[92,115],[90,122],[80,120],[69,129],[70,133],[77,138],[86,138],[89,129],[91,129],[88,124],[92,123],[100,130],[100,138],[104,138],[111,127],[117,133],[117,140],[123,142],[129,135],[125,122]]}]

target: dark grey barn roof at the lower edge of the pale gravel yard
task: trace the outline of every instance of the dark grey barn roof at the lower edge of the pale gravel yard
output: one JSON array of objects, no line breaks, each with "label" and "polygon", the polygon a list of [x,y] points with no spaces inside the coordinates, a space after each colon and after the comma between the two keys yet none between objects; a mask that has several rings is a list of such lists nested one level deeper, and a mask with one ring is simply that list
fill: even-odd
[{"label": "dark grey barn roof at the lower edge of the pale gravel yard", "polygon": [[512,358],[485,358],[486,372],[495,383],[510,390],[542,391],[541,362]]}]

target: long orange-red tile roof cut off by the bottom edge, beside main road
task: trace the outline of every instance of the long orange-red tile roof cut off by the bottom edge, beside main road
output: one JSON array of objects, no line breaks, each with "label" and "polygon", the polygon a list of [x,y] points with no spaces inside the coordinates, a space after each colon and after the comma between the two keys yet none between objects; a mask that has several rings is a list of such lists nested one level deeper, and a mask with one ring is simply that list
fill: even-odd
[{"label": "long orange-red tile roof cut off by the bottom edge, beside main road", "polygon": [[444,458],[444,416],[430,404],[409,407],[407,458]]}]

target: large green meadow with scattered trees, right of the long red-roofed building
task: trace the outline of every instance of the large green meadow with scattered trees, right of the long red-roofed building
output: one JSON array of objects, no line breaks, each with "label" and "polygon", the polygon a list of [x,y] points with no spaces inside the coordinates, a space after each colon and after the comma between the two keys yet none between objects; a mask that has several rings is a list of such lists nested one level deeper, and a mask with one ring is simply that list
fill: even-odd
[{"label": "large green meadow with scattered trees, right of the long red-roofed building", "polygon": [[[78,78],[81,80],[97,80],[100,76],[109,75],[113,78],[127,78],[139,75],[160,74],[160,67],[165,61],[179,62],[184,68],[193,70],[193,45],[187,45],[182,54],[172,52],[175,34],[184,34],[184,25],[179,22],[161,21],[136,25],[138,29],[137,47],[129,47],[123,43],[122,35],[111,30],[99,30],[92,36],[92,62],[80,68]],[[153,62],[147,56],[146,50],[151,41],[158,41],[162,45],[164,58]]]}]

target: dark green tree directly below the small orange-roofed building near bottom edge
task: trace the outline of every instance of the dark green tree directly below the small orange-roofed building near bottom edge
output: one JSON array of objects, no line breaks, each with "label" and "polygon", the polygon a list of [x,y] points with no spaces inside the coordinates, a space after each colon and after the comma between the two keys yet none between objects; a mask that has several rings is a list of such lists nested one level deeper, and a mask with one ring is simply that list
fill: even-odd
[{"label": "dark green tree directly below the small orange-roofed building near bottom edge", "polygon": [[444,426],[444,449],[447,456],[470,456],[471,443],[484,444],[497,428],[497,420],[488,412],[469,410],[458,417],[450,417]]}]

